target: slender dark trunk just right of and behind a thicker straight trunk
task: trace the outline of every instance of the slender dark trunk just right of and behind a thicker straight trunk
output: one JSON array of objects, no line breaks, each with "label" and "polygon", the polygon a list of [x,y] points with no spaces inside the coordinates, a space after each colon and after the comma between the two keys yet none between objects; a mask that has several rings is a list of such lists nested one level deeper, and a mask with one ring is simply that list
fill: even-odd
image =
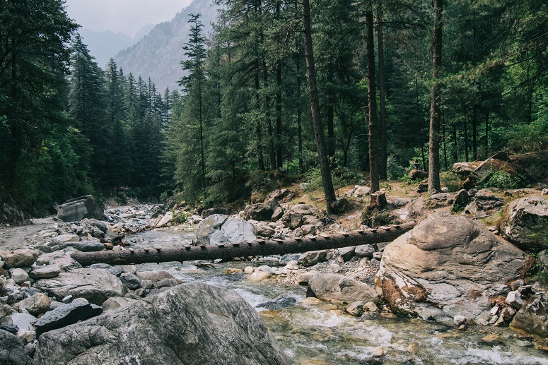
[{"label": "slender dark trunk just right of and behind a thicker straight trunk", "polygon": [[383,32],[383,8],[378,5],[377,47],[379,55],[379,108],[380,108],[380,153],[379,153],[379,178],[386,180],[387,161],[387,131],[386,131],[386,92],[385,92],[385,56],[384,56],[384,32]]}]

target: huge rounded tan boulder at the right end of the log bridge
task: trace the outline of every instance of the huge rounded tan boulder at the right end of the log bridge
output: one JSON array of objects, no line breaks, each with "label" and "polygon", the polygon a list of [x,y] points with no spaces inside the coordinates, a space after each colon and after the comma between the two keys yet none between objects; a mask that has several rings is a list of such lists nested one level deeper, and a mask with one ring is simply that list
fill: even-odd
[{"label": "huge rounded tan boulder at the right end of the log bridge", "polygon": [[525,254],[481,223],[433,213],[385,247],[375,289],[393,311],[442,323],[489,319],[489,297],[510,291]]}]

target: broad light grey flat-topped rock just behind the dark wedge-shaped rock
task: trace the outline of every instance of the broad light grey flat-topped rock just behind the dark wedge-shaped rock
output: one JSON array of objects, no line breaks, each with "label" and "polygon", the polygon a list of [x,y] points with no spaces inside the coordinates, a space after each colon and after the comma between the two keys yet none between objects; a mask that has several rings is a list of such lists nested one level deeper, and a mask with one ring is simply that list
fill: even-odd
[{"label": "broad light grey flat-topped rock just behind the dark wedge-shaped rock", "polygon": [[53,279],[40,279],[35,287],[57,299],[69,295],[86,298],[100,306],[110,297],[123,297],[127,289],[122,282],[106,270],[82,268],[70,273],[60,273]]}]

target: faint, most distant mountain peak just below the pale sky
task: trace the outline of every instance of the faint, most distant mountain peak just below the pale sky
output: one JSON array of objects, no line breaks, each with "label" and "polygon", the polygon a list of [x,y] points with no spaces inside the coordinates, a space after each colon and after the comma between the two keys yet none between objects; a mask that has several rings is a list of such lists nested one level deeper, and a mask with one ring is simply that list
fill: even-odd
[{"label": "faint, most distant mountain peak just below the pale sky", "polygon": [[120,32],[115,33],[112,30],[96,32],[88,28],[80,28],[78,31],[83,42],[88,45],[90,54],[95,57],[99,66],[104,68],[110,57],[114,57],[121,49],[126,49],[141,40],[153,27],[153,24],[144,25],[135,37]]}]

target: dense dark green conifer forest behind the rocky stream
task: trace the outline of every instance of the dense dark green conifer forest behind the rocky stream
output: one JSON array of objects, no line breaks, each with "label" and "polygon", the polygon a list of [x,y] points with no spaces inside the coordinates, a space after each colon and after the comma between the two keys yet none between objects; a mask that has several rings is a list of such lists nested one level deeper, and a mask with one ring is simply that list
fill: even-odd
[{"label": "dense dark green conifer forest behind the rocky stream", "polygon": [[374,184],[415,159],[435,176],[547,148],[544,1],[218,5],[211,34],[188,19],[180,90],[156,90],[113,59],[101,69],[64,1],[0,0],[0,201],[33,214],[87,193],[215,206],[280,176]]}]

